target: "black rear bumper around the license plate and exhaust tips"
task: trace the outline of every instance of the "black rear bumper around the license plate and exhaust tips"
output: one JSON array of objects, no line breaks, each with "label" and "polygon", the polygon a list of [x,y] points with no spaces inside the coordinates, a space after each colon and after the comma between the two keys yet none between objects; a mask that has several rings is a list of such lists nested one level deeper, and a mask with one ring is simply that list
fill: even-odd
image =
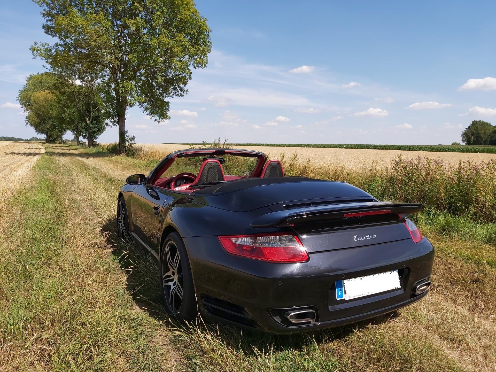
[{"label": "black rear bumper around the license plate and exhaust tips", "polygon": [[[339,326],[408,306],[421,298],[415,283],[431,276],[434,248],[424,238],[310,253],[304,263],[267,263],[227,253],[217,237],[185,238],[202,312],[211,318],[270,333]],[[338,280],[398,270],[401,288],[337,300]],[[272,309],[314,307],[314,322],[292,325]],[[271,311],[272,310],[272,311]]]}]

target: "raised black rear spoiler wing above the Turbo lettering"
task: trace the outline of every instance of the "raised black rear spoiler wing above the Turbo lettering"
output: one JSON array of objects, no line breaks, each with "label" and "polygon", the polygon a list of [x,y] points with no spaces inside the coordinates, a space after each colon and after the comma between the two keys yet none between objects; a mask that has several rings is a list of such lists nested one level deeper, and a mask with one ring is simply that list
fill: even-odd
[{"label": "raised black rear spoiler wing above the Turbo lettering", "polygon": [[318,205],[267,213],[253,220],[251,227],[290,226],[301,222],[321,221],[332,218],[352,218],[385,213],[395,213],[400,219],[404,219],[411,214],[422,212],[423,209],[424,206],[422,204],[393,201]]}]

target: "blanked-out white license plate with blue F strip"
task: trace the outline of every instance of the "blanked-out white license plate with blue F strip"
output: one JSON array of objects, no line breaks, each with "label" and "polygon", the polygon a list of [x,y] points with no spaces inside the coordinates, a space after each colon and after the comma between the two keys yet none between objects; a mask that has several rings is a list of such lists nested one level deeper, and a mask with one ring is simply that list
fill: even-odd
[{"label": "blanked-out white license plate with blue F strip", "polygon": [[336,299],[350,300],[357,297],[401,288],[398,270],[361,276],[336,282]]}]

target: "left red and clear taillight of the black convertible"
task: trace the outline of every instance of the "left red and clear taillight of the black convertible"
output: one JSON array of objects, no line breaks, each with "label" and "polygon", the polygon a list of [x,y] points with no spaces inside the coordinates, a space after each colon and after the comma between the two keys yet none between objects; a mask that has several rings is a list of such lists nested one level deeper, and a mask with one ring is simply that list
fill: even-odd
[{"label": "left red and clear taillight of the black convertible", "polygon": [[300,240],[292,234],[234,235],[219,237],[229,253],[270,262],[304,262],[309,255]]}]

